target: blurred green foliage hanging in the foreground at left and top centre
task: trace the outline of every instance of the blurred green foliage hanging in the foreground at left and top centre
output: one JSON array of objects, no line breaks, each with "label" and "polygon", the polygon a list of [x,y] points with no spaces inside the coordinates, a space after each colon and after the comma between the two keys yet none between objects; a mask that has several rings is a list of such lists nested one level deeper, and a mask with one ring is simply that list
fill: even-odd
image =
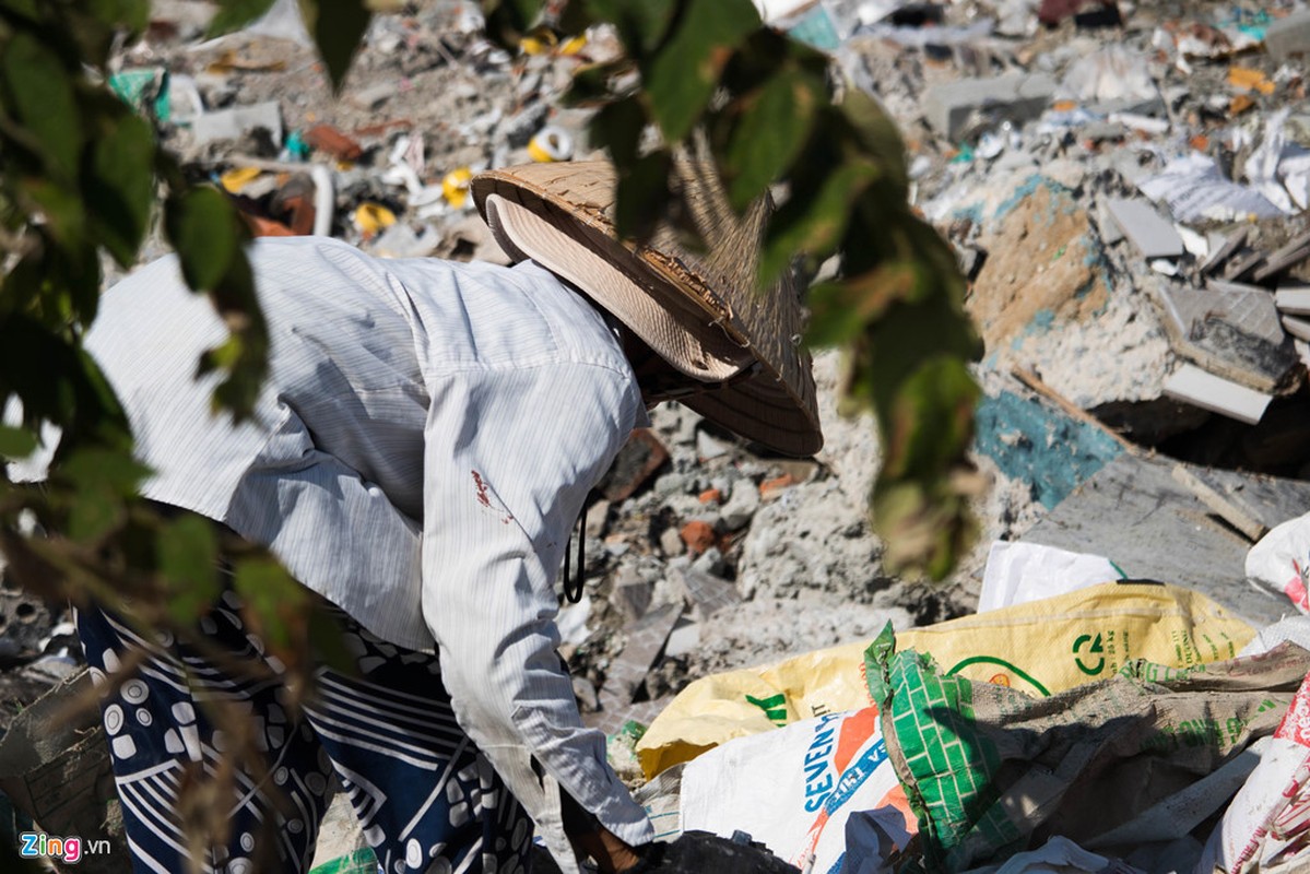
[{"label": "blurred green foliage hanging in the foreground at left and top centre", "polygon": [[[212,30],[241,26],[271,4],[221,3]],[[324,9],[331,14],[301,5],[339,85],[372,4],[334,3]],[[482,5],[508,46],[542,30],[616,28],[625,55],[582,67],[566,100],[597,107],[591,136],[620,169],[622,231],[639,236],[676,208],[671,161],[698,148],[736,207],[770,186],[783,193],[761,286],[798,258],[814,270],[840,256],[837,278],[811,288],[808,342],[849,350],[845,402],[876,414],[883,469],[871,512],[884,562],[945,577],[972,529],[965,448],[977,389],[965,364],[977,341],[950,248],[907,203],[892,122],[834,81],[827,55],[762,26],[751,0]],[[0,476],[0,549],[35,591],[75,601],[126,596],[144,625],[186,626],[220,586],[219,536],[196,519],[162,519],[134,497],[147,470],[81,350],[101,253],[131,266],[161,223],[187,282],[231,329],[196,362],[198,373],[223,375],[216,414],[249,415],[267,335],[234,211],[216,189],[191,185],[152,124],[105,85],[113,50],[139,37],[148,17],[148,0],[0,0],[0,405],[22,411],[21,423],[0,425],[0,456],[31,452],[43,423],[63,432],[45,486]],[[267,556],[228,546],[234,586],[290,647],[303,637],[284,628],[297,587]]]}]

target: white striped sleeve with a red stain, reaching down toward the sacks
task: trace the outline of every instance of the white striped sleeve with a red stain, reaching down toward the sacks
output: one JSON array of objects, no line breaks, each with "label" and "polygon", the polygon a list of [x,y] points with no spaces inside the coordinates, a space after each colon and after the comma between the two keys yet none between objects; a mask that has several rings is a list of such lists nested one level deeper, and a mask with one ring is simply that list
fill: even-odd
[{"label": "white striped sleeve with a red stain, reaching down toward the sacks", "polygon": [[630,844],[651,839],[584,729],[557,653],[555,577],[591,486],[645,408],[629,372],[565,362],[431,380],[423,615],[460,725],[565,870],[555,784]]}]

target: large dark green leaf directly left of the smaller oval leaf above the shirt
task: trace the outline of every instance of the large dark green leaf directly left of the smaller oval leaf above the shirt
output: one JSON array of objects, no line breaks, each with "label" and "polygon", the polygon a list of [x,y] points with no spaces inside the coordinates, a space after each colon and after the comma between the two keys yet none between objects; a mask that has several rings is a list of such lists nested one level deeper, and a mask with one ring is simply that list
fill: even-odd
[{"label": "large dark green leaf directly left of the smaller oval leaf above the shirt", "polygon": [[115,261],[128,267],[145,236],[155,202],[155,132],[123,114],[93,149],[83,185],[93,227]]}]

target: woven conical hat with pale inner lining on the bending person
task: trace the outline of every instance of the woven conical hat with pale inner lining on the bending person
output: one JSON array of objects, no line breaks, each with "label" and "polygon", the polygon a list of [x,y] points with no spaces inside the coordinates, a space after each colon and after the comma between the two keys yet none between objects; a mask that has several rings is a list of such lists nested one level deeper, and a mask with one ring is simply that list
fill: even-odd
[{"label": "woven conical hat with pale inner lining on the bending person", "polygon": [[563,276],[673,368],[715,385],[683,404],[778,452],[817,452],[823,432],[795,283],[789,274],[756,292],[768,203],[739,218],[713,173],[680,162],[673,182],[709,249],[688,249],[671,227],[637,245],[614,232],[614,182],[608,161],[529,164],[482,173],[472,191],[511,258]]}]

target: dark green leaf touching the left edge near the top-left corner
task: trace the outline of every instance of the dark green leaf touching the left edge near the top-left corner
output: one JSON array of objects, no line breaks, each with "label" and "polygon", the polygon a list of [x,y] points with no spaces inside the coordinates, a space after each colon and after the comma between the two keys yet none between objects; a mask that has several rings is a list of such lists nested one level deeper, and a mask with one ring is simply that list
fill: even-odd
[{"label": "dark green leaf touching the left edge near the top-left corner", "polygon": [[60,180],[76,178],[83,128],[73,73],[59,55],[26,31],[9,39],[0,69],[16,119],[41,143],[48,170]]}]

